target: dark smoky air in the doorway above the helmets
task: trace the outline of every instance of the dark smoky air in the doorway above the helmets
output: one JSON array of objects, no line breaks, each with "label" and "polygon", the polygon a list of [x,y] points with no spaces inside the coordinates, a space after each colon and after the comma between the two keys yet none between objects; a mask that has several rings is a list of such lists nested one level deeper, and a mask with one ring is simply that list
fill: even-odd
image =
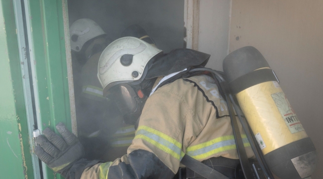
[{"label": "dark smoky air in the doorway above the helmets", "polygon": [[164,52],[183,48],[184,0],[68,0],[68,7],[70,25],[90,18],[115,40],[138,24]]}]

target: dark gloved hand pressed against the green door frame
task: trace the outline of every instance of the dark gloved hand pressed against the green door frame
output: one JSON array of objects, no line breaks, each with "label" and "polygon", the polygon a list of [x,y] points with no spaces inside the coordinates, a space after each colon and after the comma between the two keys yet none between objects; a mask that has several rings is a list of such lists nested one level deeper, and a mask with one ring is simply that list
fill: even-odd
[{"label": "dark gloved hand pressed against the green door frame", "polygon": [[83,158],[84,150],[78,138],[63,123],[58,123],[56,129],[63,139],[46,128],[43,135],[36,137],[38,145],[34,152],[49,168],[66,178],[72,165]]}]

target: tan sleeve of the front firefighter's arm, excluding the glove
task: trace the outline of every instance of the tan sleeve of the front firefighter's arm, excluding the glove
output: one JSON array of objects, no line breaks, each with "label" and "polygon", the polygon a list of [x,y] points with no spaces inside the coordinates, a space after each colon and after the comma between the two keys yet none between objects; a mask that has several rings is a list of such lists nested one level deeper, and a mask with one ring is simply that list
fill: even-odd
[{"label": "tan sleeve of the front firefighter's arm, excluding the glove", "polygon": [[[203,105],[200,97],[187,101],[186,96],[173,91],[161,88],[148,98],[127,155],[85,169],[81,179],[171,179],[186,147],[205,125],[191,106]],[[198,95],[189,91],[186,94]]]}]

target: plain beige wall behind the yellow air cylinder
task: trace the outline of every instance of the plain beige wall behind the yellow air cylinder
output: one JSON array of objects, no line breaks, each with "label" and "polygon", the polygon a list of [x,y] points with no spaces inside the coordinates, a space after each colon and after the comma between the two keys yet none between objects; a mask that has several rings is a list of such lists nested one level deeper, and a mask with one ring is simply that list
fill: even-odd
[{"label": "plain beige wall behind the yellow air cylinder", "polygon": [[232,0],[230,52],[256,47],[312,138],[323,176],[323,0]]}]

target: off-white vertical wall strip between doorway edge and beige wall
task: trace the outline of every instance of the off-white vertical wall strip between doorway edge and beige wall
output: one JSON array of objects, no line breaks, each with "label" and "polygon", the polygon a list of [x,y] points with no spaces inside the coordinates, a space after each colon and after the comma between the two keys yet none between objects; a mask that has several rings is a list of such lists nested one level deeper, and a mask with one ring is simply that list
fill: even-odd
[{"label": "off-white vertical wall strip between doorway edge and beige wall", "polygon": [[211,55],[207,67],[222,71],[228,52],[230,0],[200,0],[198,50]]}]

